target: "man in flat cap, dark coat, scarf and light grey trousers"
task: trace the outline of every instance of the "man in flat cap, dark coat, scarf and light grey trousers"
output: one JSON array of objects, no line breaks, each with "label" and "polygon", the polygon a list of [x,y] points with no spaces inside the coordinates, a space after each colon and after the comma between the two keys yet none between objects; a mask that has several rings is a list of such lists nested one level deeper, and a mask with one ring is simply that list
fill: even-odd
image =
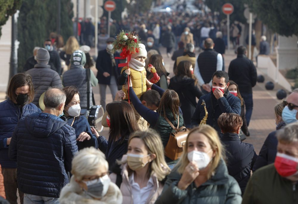
[{"label": "man in flat cap, dark coat, scarf and light grey trousers", "polygon": [[106,43],[107,47],[105,50],[100,50],[98,52],[98,57],[96,60],[97,79],[99,83],[100,92],[100,105],[105,109],[105,95],[106,88],[109,86],[112,94],[112,99],[115,98],[116,92],[118,90],[117,77],[120,75],[121,69],[118,68],[119,60],[115,57],[119,57],[118,52],[113,52],[113,42],[115,38],[108,38]]}]

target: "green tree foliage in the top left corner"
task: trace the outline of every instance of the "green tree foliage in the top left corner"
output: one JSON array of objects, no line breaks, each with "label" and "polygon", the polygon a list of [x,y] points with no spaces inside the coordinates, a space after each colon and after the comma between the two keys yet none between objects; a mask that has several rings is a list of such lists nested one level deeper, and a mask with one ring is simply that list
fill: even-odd
[{"label": "green tree foliage in the top left corner", "polygon": [[9,16],[20,9],[22,0],[0,0],[0,38],[1,27],[6,24]]}]

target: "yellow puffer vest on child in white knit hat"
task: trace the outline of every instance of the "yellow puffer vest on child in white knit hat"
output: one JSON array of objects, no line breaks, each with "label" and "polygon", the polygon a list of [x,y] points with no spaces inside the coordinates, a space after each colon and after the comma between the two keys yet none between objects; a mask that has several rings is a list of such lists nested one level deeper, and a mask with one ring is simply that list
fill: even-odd
[{"label": "yellow puffer vest on child in white knit hat", "polygon": [[[142,71],[136,71],[131,67],[129,68],[131,69],[131,74],[129,76],[131,78],[132,87],[134,89],[134,92],[136,93],[136,96],[140,98],[141,95],[147,90],[146,69],[144,67]],[[125,69],[127,69],[127,67],[123,67],[121,73],[124,72]],[[122,90],[125,93],[125,99],[128,99],[127,84],[122,86]]]}]

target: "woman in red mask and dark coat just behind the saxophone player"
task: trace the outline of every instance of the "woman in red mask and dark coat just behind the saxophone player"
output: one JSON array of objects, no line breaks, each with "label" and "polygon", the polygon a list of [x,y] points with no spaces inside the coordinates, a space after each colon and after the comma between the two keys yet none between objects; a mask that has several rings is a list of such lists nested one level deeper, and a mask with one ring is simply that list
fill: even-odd
[{"label": "woman in red mask and dark coat just behind the saxophone player", "polygon": [[240,94],[240,91],[238,89],[238,84],[236,84],[232,80],[230,80],[229,83],[230,83],[230,85],[228,87],[229,92],[231,94],[233,94],[234,96],[238,97],[240,99],[240,101],[241,101],[241,113],[240,113],[240,116],[241,116],[242,122],[243,122],[243,125],[241,126],[241,130],[244,133],[244,135],[249,136],[250,134],[249,134],[248,127],[247,127],[247,124],[246,124],[246,119],[245,119],[245,110],[244,110],[245,103],[244,103],[244,100],[243,100],[243,98],[242,98],[242,96]]}]

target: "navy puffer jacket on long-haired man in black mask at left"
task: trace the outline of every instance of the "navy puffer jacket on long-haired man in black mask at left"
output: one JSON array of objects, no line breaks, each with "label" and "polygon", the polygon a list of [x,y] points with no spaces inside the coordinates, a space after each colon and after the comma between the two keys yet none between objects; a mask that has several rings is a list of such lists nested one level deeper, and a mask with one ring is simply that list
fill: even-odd
[{"label": "navy puffer jacket on long-haired man in black mask at left", "polygon": [[[22,111],[22,112],[21,112]],[[41,112],[33,103],[24,105],[22,109],[9,98],[0,103],[0,164],[2,168],[17,168],[17,163],[8,158],[7,138],[13,136],[18,121],[26,115]]]}]

